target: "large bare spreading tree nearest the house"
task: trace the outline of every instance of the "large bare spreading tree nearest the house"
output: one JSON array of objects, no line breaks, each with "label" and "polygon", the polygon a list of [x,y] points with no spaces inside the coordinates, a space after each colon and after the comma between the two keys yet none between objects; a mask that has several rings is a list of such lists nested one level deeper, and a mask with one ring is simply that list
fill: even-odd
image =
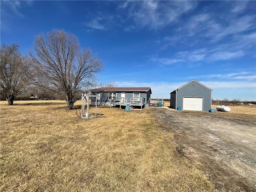
[{"label": "large bare spreading tree nearest the house", "polygon": [[90,49],[81,49],[78,39],[64,30],[36,36],[30,76],[32,82],[64,96],[68,109],[80,98],[80,91],[91,86],[102,70],[102,62]]}]

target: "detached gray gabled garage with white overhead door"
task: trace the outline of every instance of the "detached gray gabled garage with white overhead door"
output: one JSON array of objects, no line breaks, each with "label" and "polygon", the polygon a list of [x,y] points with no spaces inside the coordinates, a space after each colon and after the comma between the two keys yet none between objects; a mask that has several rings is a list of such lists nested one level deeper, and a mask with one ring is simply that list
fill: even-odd
[{"label": "detached gray gabled garage with white overhead door", "polygon": [[170,107],[209,111],[212,107],[212,90],[193,79],[170,93]]}]

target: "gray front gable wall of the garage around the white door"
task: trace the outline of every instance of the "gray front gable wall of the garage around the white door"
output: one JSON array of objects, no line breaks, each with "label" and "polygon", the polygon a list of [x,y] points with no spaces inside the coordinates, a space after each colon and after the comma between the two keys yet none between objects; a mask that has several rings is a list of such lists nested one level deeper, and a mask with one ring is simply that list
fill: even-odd
[{"label": "gray front gable wall of the garage around the white door", "polygon": [[186,86],[178,89],[176,94],[177,101],[175,108],[183,106],[183,97],[201,97],[203,98],[203,111],[209,111],[211,109],[211,91],[197,82],[190,82]]}]

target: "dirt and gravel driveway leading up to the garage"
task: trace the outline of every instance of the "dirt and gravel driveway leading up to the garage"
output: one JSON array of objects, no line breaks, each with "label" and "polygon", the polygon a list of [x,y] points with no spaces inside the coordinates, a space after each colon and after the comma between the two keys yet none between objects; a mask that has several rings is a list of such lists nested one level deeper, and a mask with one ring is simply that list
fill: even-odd
[{"label": "dirt and gravel driveway leading up to the garage", "polygon": [[174,134],[178,153],[198,165],[216,191],[256,191],[256,116],[147,109]]}]

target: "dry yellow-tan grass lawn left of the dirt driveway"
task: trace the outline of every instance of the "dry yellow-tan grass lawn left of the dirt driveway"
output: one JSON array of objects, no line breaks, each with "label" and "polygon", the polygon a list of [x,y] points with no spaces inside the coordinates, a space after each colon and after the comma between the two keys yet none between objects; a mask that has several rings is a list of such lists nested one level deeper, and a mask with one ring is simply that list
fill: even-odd
[{"label": "dry yellow-tan grass lawn left of the dirt driveway", "polygon": [[64,101],[14,104],[0,102],[0,191],[214,190],[146,110],[98,108],[85,120]]}]

